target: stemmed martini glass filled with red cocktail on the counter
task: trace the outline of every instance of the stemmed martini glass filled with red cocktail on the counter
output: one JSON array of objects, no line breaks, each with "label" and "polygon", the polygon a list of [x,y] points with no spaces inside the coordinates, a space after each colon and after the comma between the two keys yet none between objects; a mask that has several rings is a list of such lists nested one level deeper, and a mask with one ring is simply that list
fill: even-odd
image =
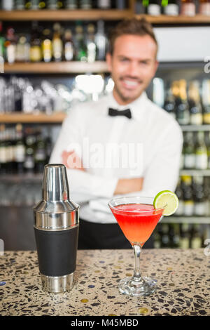
[{"label": "stemmed martini glass filled with red cocktail on the counter", "polygon": [[155,279],[141,277],[139,268],[141,249],[164,211],[164,207],[155,209],[153,200],[151,197],[120,197],[109,202],[118,225],[134,249],[134,275],[118,284],[119,291],[130,296],[148,296],[155,291],[157,283]]}]

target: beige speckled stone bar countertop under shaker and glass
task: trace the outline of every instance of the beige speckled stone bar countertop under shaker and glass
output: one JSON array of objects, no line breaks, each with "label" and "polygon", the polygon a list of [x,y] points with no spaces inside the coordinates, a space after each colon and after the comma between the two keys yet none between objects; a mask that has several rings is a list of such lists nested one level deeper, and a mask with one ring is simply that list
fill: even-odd
[{"label": "beige speckled stone bar countertop under shaker and glass", "polygon": [[143,249],[141,273],[158,279],[148,297],[118,292],[118,281],[133,268],[132,249],[78,251],[73,289],[52,294],[41,289],[36,251],[6,251],[0,256],[0,315],[210,315],[204,249]]}]

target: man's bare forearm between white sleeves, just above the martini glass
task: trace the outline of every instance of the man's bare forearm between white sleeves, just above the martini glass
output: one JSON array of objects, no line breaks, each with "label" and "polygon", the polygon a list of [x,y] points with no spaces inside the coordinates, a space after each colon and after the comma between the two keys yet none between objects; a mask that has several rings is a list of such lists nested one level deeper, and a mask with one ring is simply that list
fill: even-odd
[{"label": "man's bare forearm between white sleeves, just above the martini glass", "polygon": [[144,178],[119,179],[114,194],[129,194],[142,189]]}]

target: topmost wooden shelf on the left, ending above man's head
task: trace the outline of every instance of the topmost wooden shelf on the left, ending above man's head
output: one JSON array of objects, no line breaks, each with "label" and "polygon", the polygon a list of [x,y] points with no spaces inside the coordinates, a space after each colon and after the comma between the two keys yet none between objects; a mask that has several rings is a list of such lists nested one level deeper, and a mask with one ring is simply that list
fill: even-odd
[{"label": "topmost wooden shelf on the left, ending above man's head", "polygon": [[0,11],[0,20],[123,20],[132,16],[130,9],[125,10],[41,10],[41,11]]}]

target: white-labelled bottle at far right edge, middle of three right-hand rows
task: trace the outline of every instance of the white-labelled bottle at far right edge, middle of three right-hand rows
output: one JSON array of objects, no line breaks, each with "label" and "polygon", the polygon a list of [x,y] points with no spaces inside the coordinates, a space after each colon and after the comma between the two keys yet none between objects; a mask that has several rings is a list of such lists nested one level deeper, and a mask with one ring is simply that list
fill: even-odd
[{"label": "white-labelled bottle at far right edge, middle of three right-hand rows", "polygon": [[197,132],[197,140],[195,143],[195,169],[207,169],[208,168],[208,154],[207,145],[204,141],[204,132]]}]

